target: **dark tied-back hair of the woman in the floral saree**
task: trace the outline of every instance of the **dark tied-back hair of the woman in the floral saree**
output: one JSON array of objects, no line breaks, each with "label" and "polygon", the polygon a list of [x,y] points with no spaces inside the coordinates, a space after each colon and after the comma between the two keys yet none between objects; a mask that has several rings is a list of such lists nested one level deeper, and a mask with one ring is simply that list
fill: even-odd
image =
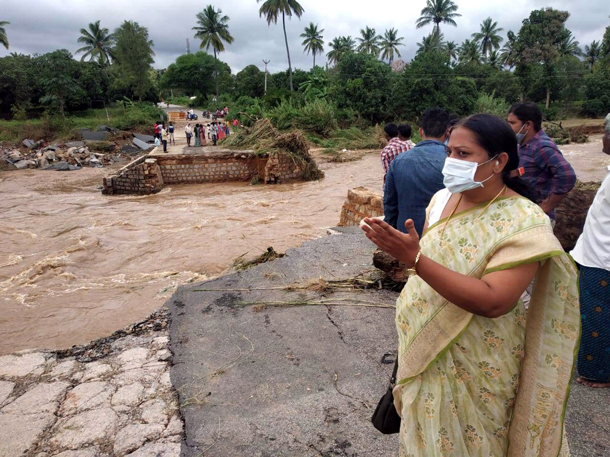
[{"label": "dark tied-back hair of the woman in the floral saree", "polygon": [[508,162],[502,171],[504,184],[533,202],[540,201],[540,194],[517,174],[519,169],[517,137],[508,122],[498,116],[477,114],[463,119],[454,128],[458,127],[464,127],[474,133],[477,143],[487,151],[489,158],[506,152]]}]

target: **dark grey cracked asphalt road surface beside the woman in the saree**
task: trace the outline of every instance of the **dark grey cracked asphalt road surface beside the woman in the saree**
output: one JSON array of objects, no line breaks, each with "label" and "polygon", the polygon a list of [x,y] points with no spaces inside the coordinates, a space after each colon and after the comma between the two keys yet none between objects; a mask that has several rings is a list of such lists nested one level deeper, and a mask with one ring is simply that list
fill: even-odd
[{"label": "dark grey cracked asphalt road surface beside the woman in the saree", "polygon": [[[348,297],[393,304],[397,293],[386,290],[281,290],[373,269],[373,244],[357,227],[339,230],[248,271],[182,286],[169,300],[185,457],[398,454],[397,437],[370,423],[392,372],[392,361],[381,360],[397,346],[393,309],[245,306]],[[609,400],[610,389],[573,386],[566,414],[572,457],[610,454]]]}]

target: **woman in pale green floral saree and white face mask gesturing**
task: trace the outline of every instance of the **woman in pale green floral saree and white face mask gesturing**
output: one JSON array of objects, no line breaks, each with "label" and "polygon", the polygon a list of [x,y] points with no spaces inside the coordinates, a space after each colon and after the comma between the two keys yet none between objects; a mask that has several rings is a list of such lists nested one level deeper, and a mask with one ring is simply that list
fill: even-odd
[{"label": "woman in pale green floral saree and white face mask gesturing", "polygon": [[[578,339],[576,269],[519,178],[500,118],[451,132],[422,239],[365,219],[412,266],[397,300],[401,457],[569,455],[563,420]],[[483,184],[484,183],[484,184]],[[525,310],[520,296],[535,278]]]}]

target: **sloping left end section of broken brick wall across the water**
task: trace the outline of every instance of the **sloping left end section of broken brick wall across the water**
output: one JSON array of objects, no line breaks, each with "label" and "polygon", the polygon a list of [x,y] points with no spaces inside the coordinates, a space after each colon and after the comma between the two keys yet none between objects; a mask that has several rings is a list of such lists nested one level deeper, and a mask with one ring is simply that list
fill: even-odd
[{"label": "sloping left end section of broken brick wall across the water", "polygon": [[163,175],[157,160],[142,155],[115,174],[104,178],[102,194],[148,195],[163,188]]}]

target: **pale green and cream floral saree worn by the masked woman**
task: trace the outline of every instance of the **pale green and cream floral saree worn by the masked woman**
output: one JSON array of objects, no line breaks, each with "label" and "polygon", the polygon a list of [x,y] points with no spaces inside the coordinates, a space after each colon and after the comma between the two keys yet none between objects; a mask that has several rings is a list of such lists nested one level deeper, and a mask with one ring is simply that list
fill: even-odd
[{"label": "pale green and cream floral saree worn by the masked woman", "polygon": [[476,278],[540,261],[529,311],[519,300],[496,319],[475,316],[409,279],[396,316],[400,456],[569,455],[562,437],[580,337],[575,265],[537,205],[522,197],[485,205],[455,214],[444,230],[447,219],[429,227],[422,253]]}]

